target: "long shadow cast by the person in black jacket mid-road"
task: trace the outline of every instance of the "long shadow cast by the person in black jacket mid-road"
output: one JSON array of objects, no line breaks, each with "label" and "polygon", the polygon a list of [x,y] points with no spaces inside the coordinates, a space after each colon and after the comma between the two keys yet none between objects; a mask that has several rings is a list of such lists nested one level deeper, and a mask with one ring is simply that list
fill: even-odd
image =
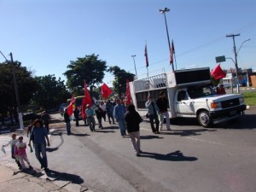
[{"label": "long shadow cast by the person in black jacket mid-road", "polygon": [[170,160],[170,161],[195,161],[198,160],[196,157],[184,156],[180,151],[175,151],[170,154],[157,154],[144,152],[141,154],[142,157],[154,158],[155,160]]}]

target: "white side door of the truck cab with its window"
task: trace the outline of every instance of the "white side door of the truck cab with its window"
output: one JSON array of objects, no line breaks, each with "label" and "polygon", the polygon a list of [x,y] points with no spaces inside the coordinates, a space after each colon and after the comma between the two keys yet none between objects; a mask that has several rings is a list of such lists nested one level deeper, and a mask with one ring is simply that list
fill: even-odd
[{"label": "white side door of the truck cab with its window", "polygon": [[194,103],[189,99],[186,90],[177,90],[175,101],[177,116],[190,116],[195,113]]}]

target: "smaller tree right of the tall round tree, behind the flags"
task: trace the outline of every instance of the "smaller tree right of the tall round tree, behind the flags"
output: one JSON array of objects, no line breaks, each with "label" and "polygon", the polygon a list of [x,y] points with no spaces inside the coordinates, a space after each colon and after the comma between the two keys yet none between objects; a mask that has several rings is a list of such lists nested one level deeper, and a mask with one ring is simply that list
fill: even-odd
[{"label": "smaller tree right of the tall round tree, behind the flags", "polygon": [[124,69],[118,66],[108,67],[109,73],[113,73],[113,90],[118,93],[119,96],[125,95],[126,92],[126,80],[132,81],[134,79],[133,73],[127,73]]}]

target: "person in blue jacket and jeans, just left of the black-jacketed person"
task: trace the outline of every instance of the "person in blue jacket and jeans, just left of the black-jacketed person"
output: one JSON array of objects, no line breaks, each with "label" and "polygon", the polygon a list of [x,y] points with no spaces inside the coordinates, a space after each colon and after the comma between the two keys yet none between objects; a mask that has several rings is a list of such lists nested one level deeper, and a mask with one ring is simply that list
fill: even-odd
[{"label": "person in blue jacket and jeans, just left of the black-jacketed person", "polygon": [[125,125],[125,106],[121,103],[120,99],[117,99],[116,106],[113,108],[113,117],[116,119],[116,122],[119,124],[119,129],[121,136],[126,136],[126,125]]}]

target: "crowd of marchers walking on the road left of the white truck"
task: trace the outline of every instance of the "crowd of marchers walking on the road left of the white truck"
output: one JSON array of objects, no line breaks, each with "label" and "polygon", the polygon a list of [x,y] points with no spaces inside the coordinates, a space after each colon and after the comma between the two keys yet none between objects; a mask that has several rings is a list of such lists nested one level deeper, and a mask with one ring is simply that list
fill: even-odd
[{"label": "crowd of marchers walking on the road left of the white truck", "polygon": [[[148,96],[148,101],[145,103],[145,107],[148,108],[148,117],[151,125],[151,129],[155,134],[159,134],[162,131],[164,117],[166,117],[166,129],[171,131],[170,117],[168,113],[168,101],[165,97],[165,92],[161,91],[160,96],[156,101],[152,96]],[[106,121],[106,114],[108,115],[108,122],[111,124],[115,121],[119,125],[121,137],[129,135],[134,151],[137,156],[142,153],[140,148],[140,127],[139,124],[143,121],[142,117],[137,113],[133,104],[125,105],[125,102],[120,98],[113,102],[110,99],[108,102],[101,102],[96,105],[96,108],[91,108],[89,104],[86,105],[85,110],[87,121],[90,126],[90,131],[96,131],[96,120],[98,120],[99,129],[102,129],[102,119]],[[67,109],[64,113],[64,119],[67,127],[67,134],[70,132],[70,117],[67,113]],[[111,121],[112,119],[112,121]],[[154,126],[155,124],[155,126]],[[78,124],[76,124],[78,125]],[[128,134],[126,134],[126,131]]]}]

